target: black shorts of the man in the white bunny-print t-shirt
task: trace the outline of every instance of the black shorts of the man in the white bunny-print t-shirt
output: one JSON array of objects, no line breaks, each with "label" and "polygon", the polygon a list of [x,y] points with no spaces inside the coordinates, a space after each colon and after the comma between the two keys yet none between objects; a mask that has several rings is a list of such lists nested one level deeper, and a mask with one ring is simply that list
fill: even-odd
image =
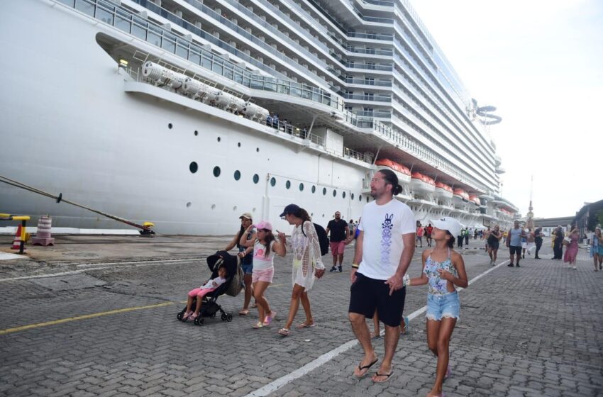
[{"label": "black shorts of the man in the white bunny-print t-shirt", "polygon": [[350,286],[350,308],[348,312],[372,318],[377,309],[379,319],[390,327],[397,327],[402,321],[406,287],[394,291],[389,296],[389,285],[385,280],[370,279],[356,272],[356,281]]}]

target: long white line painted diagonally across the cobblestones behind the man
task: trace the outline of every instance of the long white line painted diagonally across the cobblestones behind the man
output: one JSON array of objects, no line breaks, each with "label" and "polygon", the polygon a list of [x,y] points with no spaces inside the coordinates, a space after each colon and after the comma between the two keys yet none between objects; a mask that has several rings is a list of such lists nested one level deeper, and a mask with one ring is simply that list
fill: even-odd
[{"label": "long white line painted diagonally across the cobblestones behind the man", "polygon": [[[468,284],[471,285],[471,284],[475,283],[475,281],[481,279],[483,276],[485,276],[489,272],[492,272],[494,269],[501,267],[503,264],[507,264],[507,262],[509,262],[509,259],[497,264],[496,266],[492,267],[491,269],[487,269],[485,272],[483,272],[483,273],[475,276],[473,279],[471,279]],[[458,291],[462,291],[462,290],[463,289],[458,289]],[[427,306],[423,306],[419,310],[412,312],[408,316],[409,320],[416,318],[418,315],[420,315],[421,313],[424,313],[426,310],[427,310]],[[383,334],[385,332],[385,330],[382,330],[381,332]],[[270,382],[269,384],[262,386],[261,388],[258,388],[258,390],[252,391],[251,393],[245,395],[245,397],[267,396],[268,394],[277,391],[278,389],[282,388],[282,386],[289,384],[290,382],[294,381],[295,379],[301,378],[305,374],[308,374],[310,371],[313,371],[314,369],[320,367],[322,364],[325,364],[326,362],[331,361],[331,359],[337,357],[339,354],[341,354],[343,352],[347,352],[355,345],[358,345],[358,340],[350,340],[349,342],[345,342],[343,345],[336,347],[335,349],[331,350],[330,352],[326,352],[325,354],[322,354],[321,356],[317,357],[316,359],[314,359],[314,361],[311,361],[308,364],[304,365],[304,367],[300,367],[300,368],[296,369],[295,371],[293,371],[285,376],[280,377],[279,379],[275,379],[274,381]]]}]

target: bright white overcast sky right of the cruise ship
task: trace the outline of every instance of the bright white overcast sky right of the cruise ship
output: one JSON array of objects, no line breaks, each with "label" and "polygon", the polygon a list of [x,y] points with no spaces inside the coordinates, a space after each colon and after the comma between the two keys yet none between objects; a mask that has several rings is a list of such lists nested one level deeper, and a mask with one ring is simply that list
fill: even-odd
[{"label": "bright white overcast sky right of the cruise ship", "polygon": [[[480,106],[502,157],[502,196],[525,216],[603,199],[603,1],[411,0]],[[599,169],[596,171],[595,169]]]}]

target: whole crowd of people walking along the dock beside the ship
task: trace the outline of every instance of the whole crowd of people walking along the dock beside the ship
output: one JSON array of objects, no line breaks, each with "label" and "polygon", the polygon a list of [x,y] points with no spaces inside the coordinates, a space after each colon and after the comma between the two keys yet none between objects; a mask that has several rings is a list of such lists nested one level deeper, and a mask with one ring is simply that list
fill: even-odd
[{"label": "whole crowd of people walking along the dock beside the ship", "polygon": [[[343,272],[345,246],[355,241],[354,257],[350,269],[350,301],[348,318],[355,337],[360,342],[363,357],[353,369],[353,375],[363,378],[370,369],[380,362],[372,374],[372,381],[388,381],[394,374],[392,359],[397,348],[399,335],[408,330],[408,320],[404,318],[406,286],[428,284],[426,296],[426,342],[436,357],[436,379],[428,396],[443,396],[443,381],[450,376],[449,345],[455,325],[460,319],[460,298],[456,287],[466,288],[468,276],[460,252],[454,250],[468,244],[470,236],[485,240],[485,250],[493,266],[502,241],[509,249],[509,267],[520,267],[520,259],[531,255],[541,259],[538,252],[543,244],[542,228],[523,228],[516,220],[509,230],[500,230],[499,225],[485,230],[469,230],[454,218],[431,220],[425,227],[416,223],[411,209],[394,199],[400,186],[397,176],[389,170],[380,170],[370,181],[370,194],[374,201],[363,208],[358,223],[345,221],[341,213],[333,214],[326,230],[312,223],[304,208],[296,204],[284,207],[281,218],[292,225],[287,237],[274,230],[266,220],[253,223],[250,213],[240,216],[240,230],[234,235],[225,250],[238,249],[240,267],[244,278],[244,299],[240,315],[248,315],[250,307],[258,308],[255,329],[269,326],[277,315],[270,306],[265,292],[272,284],[275,273],[274,258],[292,253],[292,293],[289,313],[284,326],[278,330],[284,337],[290,335],[299,304],[304,309],[305,319],[296,329],[314,328],[316,325],[311,311],[309,291],[320,279],[325,267],[321,248],[321,233],[328,238],[333,264],[331,272]],[[276,232],[276,235],[275,235]],[[564,259],[568,267],[576,269],[579,232],[571,228],[568,233],[559,227],[553,232],[553,259]],[[410,277],[407,273],[416,247],[423,247],[421,273]],[[563,248],[565,247],[565,255]],[[591,257],[594,271],[602,270],[603,235],[601,229],[594,230],[591,239]],[[207,281],[199,289],[188,293],[184,320],[194,320],[199,316],[203,296],[214,291],[226,280],[226,268],[220,267],[218,276]],[[196,306],[193,307],[194,298]],[[255,304],[250,306],[251,298]],[[367,319],[373,319],[375,331],[370,332]],[[380,337],[380,323],[385,325],[385,354],[377,357],[373,340]],[[380,361],[381,360],[381,361]]]}]

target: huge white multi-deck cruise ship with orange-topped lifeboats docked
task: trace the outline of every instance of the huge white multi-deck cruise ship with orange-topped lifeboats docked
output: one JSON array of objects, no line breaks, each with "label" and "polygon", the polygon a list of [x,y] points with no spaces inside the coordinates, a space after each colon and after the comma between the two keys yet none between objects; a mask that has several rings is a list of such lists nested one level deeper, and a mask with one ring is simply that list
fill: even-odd
[{"label": "huge white multi-deck cruise ship with orange-topped lifeboats docked", "polygon": [[[0,21],[4,179],[168,234],[289,230],[288,203],[357,220],[382,168],[421,223],[518,216],[500,118],[409,1],[9,0]],[[10,184],[0,211],[123,228]]]}]

